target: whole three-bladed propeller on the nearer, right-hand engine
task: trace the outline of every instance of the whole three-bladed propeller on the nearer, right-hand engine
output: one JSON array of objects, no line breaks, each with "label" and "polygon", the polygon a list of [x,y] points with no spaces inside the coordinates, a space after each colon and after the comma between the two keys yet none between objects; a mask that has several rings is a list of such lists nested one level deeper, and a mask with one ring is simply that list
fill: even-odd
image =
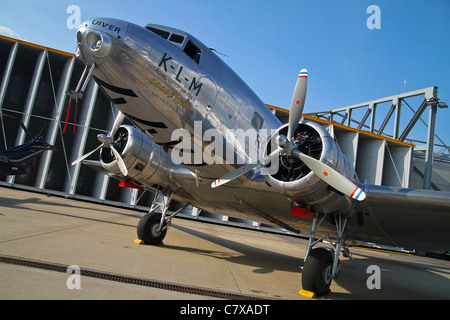
[{"label": "whole three-bladed propeller on the nearer, right-hand engine", "polygon": [[312,172],[314,172],[314,174],[339,192],[342,192],[343,194],[358,201],[362,201],[366,198],[364,191],[362,191],[344,175],[337,172],[327,164],[302,153],[295,144],[294,134],[305,105],[307,80],[308,71],[306,69],[301,69],[294,88],[294,94],[292,96],[287,137],[283,135],[279,135],[277,137],[278,148],[265,157],[261,163],[241,167],[215,180],[211,184],[212,188],[217,188],[224,185],[225,183],[230,182],[256,168],[258,165],[264,164],[268,160],[272,160],[274,157],[283,154],[300,159]]}]

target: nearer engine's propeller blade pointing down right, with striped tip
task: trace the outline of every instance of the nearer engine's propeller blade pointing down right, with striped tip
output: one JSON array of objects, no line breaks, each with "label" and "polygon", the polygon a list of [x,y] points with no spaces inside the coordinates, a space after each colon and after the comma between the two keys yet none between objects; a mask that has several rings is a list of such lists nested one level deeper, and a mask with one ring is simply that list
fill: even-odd
[{"label": "nearer engine's propeller blade pointing down right, with striped tip", "polygon": [[301,153],[298,149],[294,149],[292,154],[303,161],[320,179],[336,190],[358,201],[363,201],[366,198],[366,194],[361,188],[325,163]]}]

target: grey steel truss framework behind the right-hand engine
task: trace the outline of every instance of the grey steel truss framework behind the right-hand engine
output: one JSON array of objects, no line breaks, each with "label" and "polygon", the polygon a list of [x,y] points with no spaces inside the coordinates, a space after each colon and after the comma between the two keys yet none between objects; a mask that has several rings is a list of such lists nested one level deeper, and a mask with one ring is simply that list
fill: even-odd
[{"label": "grey steel truss framework behind the right-hand engine", "polygon": [[[416,97],[420,99],[416,102],[421,102],[414,109],[408,101]],[[384,110],[381,110],[382,108]],[[429,109],[428,123],[421,118],[427,108]],[[415,145],[414,156],[425,159],[425,169],[422,174],[423,188],[430,189],[432,186],[433,162],[450,163],[450,146],[436,135],[438,108],[448,107],[446,103],[439,101],[438,87],[433,86],[309,115]],[[381,111],[384,111],[384,113]],[[406,111],[408,111],[408,114]],[[356,114],[359,114],[359,117]],[[394,117],[393,121],[392,117]],[[406,123],[403,130],[401,130],[401,119]],[[388,132],[390,122],[391,131]],[[410,137],[410,133],[419,122],[422,122],[428,129],[426,141]],[[419,171],[417,168],[415,170],[416,172]],[[420,171],[418,173],[420,174]]]}]

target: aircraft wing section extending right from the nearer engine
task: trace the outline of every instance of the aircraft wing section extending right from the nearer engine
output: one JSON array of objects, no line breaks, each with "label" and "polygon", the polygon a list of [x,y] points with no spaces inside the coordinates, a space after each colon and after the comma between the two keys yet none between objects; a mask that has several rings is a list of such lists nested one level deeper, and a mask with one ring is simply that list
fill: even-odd
[{"label": "aircraft wing section extending right from the nearer engine", "polygon": [[450,192],[377,185],[366,185],[365,192],[360,238],[378,229],[397,247],[449,250]]}]

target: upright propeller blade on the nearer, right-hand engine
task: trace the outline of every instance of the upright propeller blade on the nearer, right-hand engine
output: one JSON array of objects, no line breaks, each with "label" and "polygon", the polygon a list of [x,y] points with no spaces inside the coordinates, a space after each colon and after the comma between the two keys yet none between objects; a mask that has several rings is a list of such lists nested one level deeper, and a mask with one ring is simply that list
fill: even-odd
[{"label": "upright propeller blade on the nearer, right-hand engine", "polygon": [[306,88],[308,84],[308,70],[302,69],[295,84],[294,94],[291,101],[291,110],[289,111],[289,127],[287,137],[291,139],[294,136],[295,129],[302,117],[303,107],[305,106]]}]

